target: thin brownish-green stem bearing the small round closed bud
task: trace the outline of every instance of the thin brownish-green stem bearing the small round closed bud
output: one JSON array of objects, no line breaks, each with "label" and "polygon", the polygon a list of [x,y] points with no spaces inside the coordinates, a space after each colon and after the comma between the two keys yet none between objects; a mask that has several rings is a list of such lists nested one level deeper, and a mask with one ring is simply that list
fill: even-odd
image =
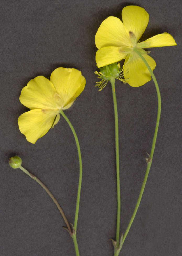
[{"label": "thin brownish-green stem bearing the small round closed bud", "polygon": [[25,168],[23,168],[22,166],[19,167],[24,173],[26,173],[27,175],[29,175],[32,179],[34,179],[39,185],[41,185],[41,187],[47,192],[47,194],[51,197],[51,199],[53,200],[53,202],[56,204],[59,212],[61,213],[66,225],[67,225],[67,228],[68,228],[68,231],[69,233],[71,234],[72,233],[72,230],[70,228],[70,225],[68,223],[68,220],[62,210],[62,208],[60,207],[60,205],[58,204],[56,198],[53,196],[53,194],[48,190],[48,188],[40,181],[40,179],[38,179],[35,175],[31,174],[29,171],[27,171]]}]

